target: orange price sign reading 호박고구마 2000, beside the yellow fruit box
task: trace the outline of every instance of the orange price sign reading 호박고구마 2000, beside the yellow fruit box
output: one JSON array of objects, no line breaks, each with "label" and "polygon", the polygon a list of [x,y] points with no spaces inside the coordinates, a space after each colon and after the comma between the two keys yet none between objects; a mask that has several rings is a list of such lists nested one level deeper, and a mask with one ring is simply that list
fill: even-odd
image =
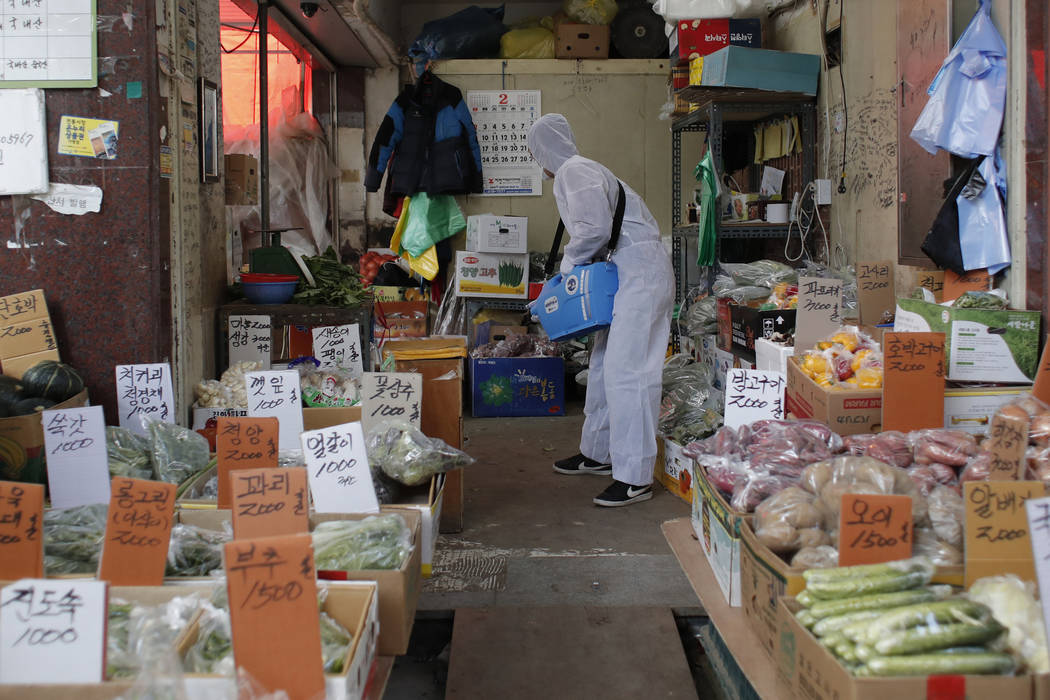
[{"label": "orange price sign reading \ud638\ubc15\uace0\uad6c\ub9c8 2000, beside the yellow fruit box", "polygon": [[944,334],[887,333],[882,429],[944,427]]}]

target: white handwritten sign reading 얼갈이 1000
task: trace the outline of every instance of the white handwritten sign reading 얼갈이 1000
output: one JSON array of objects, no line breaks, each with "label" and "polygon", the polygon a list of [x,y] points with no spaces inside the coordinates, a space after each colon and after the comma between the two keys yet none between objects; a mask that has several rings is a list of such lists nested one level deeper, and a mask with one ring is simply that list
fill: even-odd
[{"label": "white handwritten sign reading \uc5bc\uac08\uc774 1000", "polygon": [[302,433],[310,493],[318,513],[378,513],[360,423]]}]

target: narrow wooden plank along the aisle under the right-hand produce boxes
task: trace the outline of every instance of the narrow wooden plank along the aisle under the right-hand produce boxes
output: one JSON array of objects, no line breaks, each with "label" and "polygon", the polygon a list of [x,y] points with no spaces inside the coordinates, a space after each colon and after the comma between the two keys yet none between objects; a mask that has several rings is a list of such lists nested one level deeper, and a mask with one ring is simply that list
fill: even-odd
[{"label": "narrow wooden plank along the aisle under the right-hand produce boxes", "polygon": [[777,681],[774,664],[761,652],[758,638],[748,629],[743,619],[743,609],[730,608],[726,602],[711,566],[704,556],[704,550],[696,542],[689,518],[668,521],[660,526],[660,529],[708,617],[714,622],[726,646],[758,697],[765,700],[791,697],[790,690]]}]

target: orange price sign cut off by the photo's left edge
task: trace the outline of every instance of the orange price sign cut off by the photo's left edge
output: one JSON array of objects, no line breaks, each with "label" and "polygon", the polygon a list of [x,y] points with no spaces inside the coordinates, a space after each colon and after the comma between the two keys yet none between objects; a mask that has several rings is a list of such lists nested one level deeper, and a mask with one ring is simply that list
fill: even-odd
[{"label": "orange price sign cut off by the photo's left edge", "polygon": [[44,575],[44,487],[0,482],[0,578]]}]

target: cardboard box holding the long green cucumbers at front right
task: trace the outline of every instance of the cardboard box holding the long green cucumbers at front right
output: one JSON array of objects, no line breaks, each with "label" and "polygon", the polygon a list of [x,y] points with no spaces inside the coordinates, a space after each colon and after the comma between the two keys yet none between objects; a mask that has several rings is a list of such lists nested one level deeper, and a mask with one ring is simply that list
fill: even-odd
[{"label": "cardboard box holding the long green cucumbers at front right", "polygon": [[[777,610],[777,672],[791,696],[806,700],[927,700],[927,698],[1030,698],[1031,676],[910,676],[855,678],[798,623],[794,598]],[[939,692],[945,685],[947,692]]]}]

